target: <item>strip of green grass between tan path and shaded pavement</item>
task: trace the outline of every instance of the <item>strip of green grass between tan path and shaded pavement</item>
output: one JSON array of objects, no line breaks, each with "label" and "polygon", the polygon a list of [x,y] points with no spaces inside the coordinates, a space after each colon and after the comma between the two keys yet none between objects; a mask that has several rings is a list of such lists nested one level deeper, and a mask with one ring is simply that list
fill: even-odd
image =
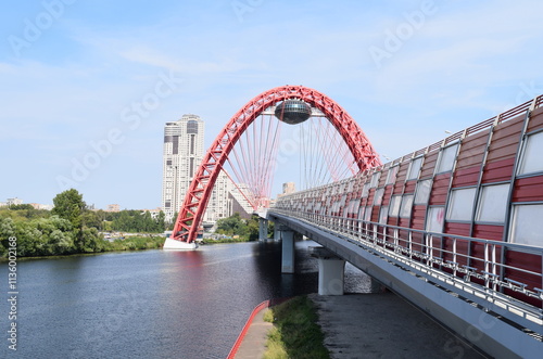
[{"label": "strip of green grass between tan path and shaded pavement", "polygon": [[264,313],[274,323],[266,342],[265,359],[328,359],[317,312],[307,296],[294,297]]}]

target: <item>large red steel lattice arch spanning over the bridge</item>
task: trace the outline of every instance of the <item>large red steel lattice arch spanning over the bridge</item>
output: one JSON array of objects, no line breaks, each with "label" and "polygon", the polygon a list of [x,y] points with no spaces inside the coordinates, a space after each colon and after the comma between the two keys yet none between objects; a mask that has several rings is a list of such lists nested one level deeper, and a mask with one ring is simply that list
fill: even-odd
[{"label": "large red steel lattice arch spanning over the bridge", "polygon": [[236,142],[266,108],[289,99],[303,100],[325,114],[349,146],[358,170],[381,165],[377,153],[359,126],[332,99],[303,86],[277,87],[249,101],[230,118],[217,136],[190,183],[172,239],[187,243],[195,240],[215,180]]}]

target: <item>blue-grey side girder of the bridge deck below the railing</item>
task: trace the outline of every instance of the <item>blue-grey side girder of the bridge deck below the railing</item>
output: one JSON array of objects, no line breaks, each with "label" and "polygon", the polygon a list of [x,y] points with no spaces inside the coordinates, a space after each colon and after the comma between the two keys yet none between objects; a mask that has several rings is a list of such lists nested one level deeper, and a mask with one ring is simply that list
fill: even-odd
[{"label": "blue-grey side girder of the bridge deck below the railing", "polygon": [[[455,280],[435,269],[440,267],[435,266],[437,258],[420,253],[418,258],[413,253],[406,257],[399,248],[388,249],[377,233],[353,236],[339,221],[277,208],[268,209],[265,216],[282,225],[283,233],[299,232],[350,261],[492,357],[538,358],[543,352],[541,309],[490,293],[488,287],[470,282],[469,275]],[[427,242],[431,243],[431,236]],[[485,278],[489,280],[489,275]]]}]

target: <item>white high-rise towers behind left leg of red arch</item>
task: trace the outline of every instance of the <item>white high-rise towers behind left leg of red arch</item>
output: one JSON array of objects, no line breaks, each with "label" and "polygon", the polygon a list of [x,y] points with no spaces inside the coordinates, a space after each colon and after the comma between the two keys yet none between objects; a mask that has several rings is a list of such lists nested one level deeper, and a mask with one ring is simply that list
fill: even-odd
[{"label": "white high-rise towers behind left leg of red arch", "polygon": [[[204,121],[199,116],[184,115],[176,121],[166,123],[164,127],[162,209],[167,221],[175,220],[174,215],[185,201],[185,195],[203,155]],[[232,215],[230,193],[233,189],[235,184],[228,176],[220,172],[207,203],[204,222],[214,222]],[[251,211],[247,201],[241,201],[241,206]]]}]

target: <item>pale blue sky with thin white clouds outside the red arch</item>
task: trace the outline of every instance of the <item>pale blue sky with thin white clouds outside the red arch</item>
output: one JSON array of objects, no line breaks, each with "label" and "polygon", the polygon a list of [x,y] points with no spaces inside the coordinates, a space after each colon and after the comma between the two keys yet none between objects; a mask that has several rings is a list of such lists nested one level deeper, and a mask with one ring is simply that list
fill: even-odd
[{"label": "pale blue sky with thin white clouds outside the red arch", "polygon": [[543,93],[542,13],[538,0],[12,1],[0,202],[76,188],[97,208],[159,207],[166,121],[200,115],[207,148],[283,85],[327,94],[383,162],[401,157]]}]

